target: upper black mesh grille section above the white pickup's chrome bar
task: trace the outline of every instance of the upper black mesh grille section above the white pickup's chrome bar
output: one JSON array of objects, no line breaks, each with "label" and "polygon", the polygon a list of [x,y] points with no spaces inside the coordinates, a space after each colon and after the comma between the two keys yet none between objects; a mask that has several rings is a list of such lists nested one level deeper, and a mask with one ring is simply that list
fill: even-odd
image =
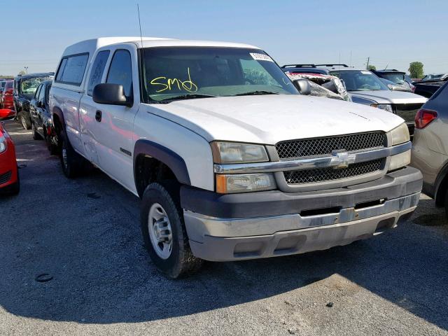
[{"label": "upper black mesh grille section above the white pickup's chrome bar", "polygon": [[336,137],[281,141],[275,148],[280,159],[331,154],[332,151],[358,151],[386,146],[384,132],[339,135]]}]

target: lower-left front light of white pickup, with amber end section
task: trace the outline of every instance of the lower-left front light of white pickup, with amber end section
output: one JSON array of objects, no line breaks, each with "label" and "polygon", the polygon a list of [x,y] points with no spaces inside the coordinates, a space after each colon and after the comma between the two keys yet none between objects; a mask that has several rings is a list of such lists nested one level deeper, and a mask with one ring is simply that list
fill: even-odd
[{"label": "lower-left front light of white pickup, with amber end section", "polygon": [[248,193],[276,188],[272,174],[217,174],[216,193]]}]

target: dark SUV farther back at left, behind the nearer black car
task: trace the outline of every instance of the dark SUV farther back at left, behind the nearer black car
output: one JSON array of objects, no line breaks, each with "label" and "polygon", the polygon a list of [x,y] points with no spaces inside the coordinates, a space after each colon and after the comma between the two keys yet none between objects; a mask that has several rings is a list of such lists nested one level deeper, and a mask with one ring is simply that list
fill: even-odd
[{"label": "dark SUV farther back at left, behind the nearer black car", "polygon": [[29,73],[14,78],[14,106],[17,113],[16,120],[25,130],[31,128],[31,116],[29,116],[29,101],[34,98],[38,85],[43,80],[54,77],[54,72]]}]

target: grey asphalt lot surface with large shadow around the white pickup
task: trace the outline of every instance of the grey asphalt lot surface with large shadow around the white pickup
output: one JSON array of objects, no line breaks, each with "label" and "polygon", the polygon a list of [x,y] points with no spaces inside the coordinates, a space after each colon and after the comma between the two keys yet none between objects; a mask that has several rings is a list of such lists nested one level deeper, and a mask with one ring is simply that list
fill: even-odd
[{"label": "grey asphalt lot surface with large shadow around the white pickup", "polygon": [[6,128],[22,188],[0,198],[0,335],[448,335],[448,224],[428,197],[372,239],[172,281],[137,197],[101,172],[66,179],[43,141]]}]

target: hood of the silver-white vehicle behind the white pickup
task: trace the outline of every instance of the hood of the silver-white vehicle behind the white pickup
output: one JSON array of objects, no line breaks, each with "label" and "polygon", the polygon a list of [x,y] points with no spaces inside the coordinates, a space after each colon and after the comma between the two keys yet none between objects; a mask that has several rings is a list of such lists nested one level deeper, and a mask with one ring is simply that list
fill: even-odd
[{"label": "hood of the silver-white vehicle behind the white pickup", "polygon": [[419,94],[392,90],[350,91],[351,96],[372,99],[378,104],[424,104],[428,100]]}]

